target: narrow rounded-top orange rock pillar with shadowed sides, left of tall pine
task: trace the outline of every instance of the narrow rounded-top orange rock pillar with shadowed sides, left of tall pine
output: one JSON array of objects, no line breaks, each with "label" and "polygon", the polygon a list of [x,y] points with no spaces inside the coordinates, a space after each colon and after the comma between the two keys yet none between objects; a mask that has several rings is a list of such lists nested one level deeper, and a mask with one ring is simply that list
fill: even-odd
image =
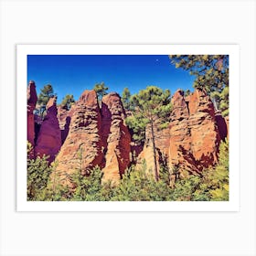
[{"label": "narrow rounded-top orange rock pillar with shadowed sides, left of tall pine", "polygon": [[118,182],[130,165],[131,135],[124,123],[123,103],[117,93],[110,93],[101,102],[102,139],[105,151],[103,180]]}]

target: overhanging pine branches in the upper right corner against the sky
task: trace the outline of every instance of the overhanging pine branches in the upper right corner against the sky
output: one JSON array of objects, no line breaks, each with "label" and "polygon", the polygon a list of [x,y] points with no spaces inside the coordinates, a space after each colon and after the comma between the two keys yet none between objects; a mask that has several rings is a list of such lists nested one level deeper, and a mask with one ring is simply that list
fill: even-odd
[{"label": "overhanging pine branches in the upper right corner against the sky", "polygon": [[195,76],[194,87],[208,92],[215,108],[229,114],[229,55],[170,55],[176,68]]}]

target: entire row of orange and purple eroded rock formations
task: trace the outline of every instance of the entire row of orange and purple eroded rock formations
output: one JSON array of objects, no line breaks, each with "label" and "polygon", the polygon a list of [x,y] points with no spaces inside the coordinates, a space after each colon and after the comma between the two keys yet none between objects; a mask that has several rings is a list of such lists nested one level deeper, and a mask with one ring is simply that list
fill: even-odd
[{"label": "entire row of orange and purple eroded rock formations", "polygon": [[[35,145],[36,155],[49,155],[49,162],[56,160],[56,172],[69,187],[74,187],[70,175],[76,170],[86,176],[96,165],[102,169],[103,181],[118,183],[134,154],[137,157],[133,164],[141,166],[145,161],[147,168],[154,170],[150,133],[146,131],[143,149],[133,144],[117,93],[104,96],[101,109],[95,91],[84,91],[69,111],[63,107],[57,109],[56,99],[51,98],[35,139],[36,103],[32,81],[27,89],[27,140]],[[215,113],[213,103],[201,90],[186,98],[178,90],[172,104],[169,127],[161,131],[154,127],[157,169],[160,163],[165,163],[171,170],[178,166],[180,170],[200,175],[203,169],[218,162],[219,143],[228,136],[229,120]]]}]

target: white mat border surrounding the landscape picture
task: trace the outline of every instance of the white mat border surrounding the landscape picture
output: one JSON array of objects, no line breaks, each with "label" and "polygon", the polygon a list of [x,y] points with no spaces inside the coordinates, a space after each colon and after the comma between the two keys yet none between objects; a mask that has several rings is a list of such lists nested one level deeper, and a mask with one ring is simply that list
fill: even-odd
[{"label": "white mat border surrounding the landscape picture", "polygon": [[[27,201],[27,55],[229,54],[229,202],[31,202]],[[239,211],[240,58],[238,45],[18,45],[17,211]]]}]

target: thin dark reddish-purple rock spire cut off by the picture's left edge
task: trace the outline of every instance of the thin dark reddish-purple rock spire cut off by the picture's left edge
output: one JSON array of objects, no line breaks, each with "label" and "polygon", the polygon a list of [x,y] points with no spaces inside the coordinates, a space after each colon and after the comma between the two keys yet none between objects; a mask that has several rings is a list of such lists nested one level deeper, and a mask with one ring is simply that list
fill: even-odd
[{"label": "thin dark reddish-purple rock spire cut off by the picture's left edge", "polygon": [[35,120],[34,110],[37,104],[36,84],[30,80],[27,87],[27,141],[35,145]]}]

